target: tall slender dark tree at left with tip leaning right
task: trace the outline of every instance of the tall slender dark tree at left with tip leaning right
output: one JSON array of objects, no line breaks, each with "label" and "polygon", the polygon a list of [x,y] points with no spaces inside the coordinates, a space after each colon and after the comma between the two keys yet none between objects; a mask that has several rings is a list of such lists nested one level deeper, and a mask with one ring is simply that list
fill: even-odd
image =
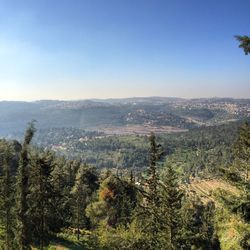
[{"label": "tall slender dark tree at left with tip leaning right", "polygon": [[28,218],[29,144],[35,133],[34,122],[26,130],[17,175],[17,237],[20,250],[30,249]]}]

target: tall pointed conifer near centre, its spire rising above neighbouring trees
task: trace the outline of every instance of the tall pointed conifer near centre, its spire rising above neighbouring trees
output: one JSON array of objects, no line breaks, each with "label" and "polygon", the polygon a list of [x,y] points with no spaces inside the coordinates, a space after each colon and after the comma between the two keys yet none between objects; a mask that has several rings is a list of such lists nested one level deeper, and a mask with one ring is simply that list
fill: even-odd
[{"label": "tall pointed conifer near centre, its spire rising above neighbouring trees", "polygon": [[168,226],[166,216],[168,210],[163,205],[164,190],[161,189],[157,162],[163,156],[164,151],[160,144],[156,143],[156,137],[150,136],[148,177],[145,180],[145,188],[141,192],[142,202],[139,205],[139,221],[143,222],[143,232],[146,234],[147,249],[166,249],[169,245]]}]

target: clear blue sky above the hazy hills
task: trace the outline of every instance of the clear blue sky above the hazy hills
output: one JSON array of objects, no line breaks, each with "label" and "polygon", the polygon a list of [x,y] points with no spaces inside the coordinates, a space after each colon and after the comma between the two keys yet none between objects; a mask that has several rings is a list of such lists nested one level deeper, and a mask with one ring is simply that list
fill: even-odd
[{"label": "clear blue sky above the hazy hills", "polygon": [[0,0],[0,100],[250,97],[249,0]]}]

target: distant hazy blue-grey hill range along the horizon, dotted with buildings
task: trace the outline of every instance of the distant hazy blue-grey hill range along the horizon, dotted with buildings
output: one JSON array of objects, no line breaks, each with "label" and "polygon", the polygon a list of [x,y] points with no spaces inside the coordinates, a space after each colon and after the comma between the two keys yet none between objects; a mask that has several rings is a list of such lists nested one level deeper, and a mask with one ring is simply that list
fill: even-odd
[{"label": "distant hazy blue-grey hill range along the horizon, dotted with buildings", "polygon": [[21,133],[31,120],[38,129],[101,128],[127,125],[190,129],[248,117],[250,99],[169,97],[106,100],[0,102],[0,136]]}]

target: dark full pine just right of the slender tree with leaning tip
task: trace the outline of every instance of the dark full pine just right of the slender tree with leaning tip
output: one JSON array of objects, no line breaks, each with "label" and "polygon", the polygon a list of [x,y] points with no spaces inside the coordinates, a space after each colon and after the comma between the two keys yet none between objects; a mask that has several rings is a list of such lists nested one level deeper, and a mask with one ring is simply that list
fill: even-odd
[{"label": "dark full pine just right of the slender tree with leaning tip", "polygon": [[53,155],[50,152],[36,153],[30,163],[29,173],[29,215],[30,228],[35,241],[38,240],[40,249],[44,248],[51,230],[51,218],[54,217],[52,171],[54,168]]}]

